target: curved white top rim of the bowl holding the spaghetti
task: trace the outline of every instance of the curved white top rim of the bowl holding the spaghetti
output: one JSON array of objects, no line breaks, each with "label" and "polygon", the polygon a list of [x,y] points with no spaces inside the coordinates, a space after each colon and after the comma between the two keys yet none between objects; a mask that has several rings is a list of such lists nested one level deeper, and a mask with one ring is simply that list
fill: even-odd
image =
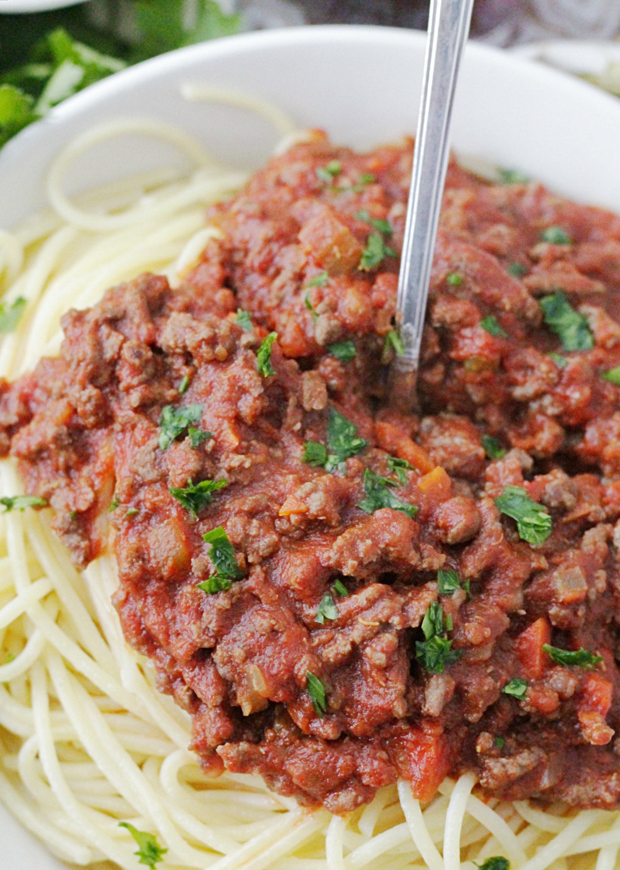
[{"label": "curved white top rim of the bowl holding the spaghetti", "polygon": [[[102,79],[88,88],[68,97],[63,103],[55,106],[45,117],[30,124],[16,137],[0,149],[0,164],[18,159],[17,152],[20,146],[26,142],[31,144],[37,137],[44,137],[49,127],[56,127],[65,120],[79,116],[81,110],[92,107],[99,102],[113,98],[115,94],[131,88],[133,84],[140,84],[152,77],[165,74],[166,71],[175,70],[185,65],[191,66],[200,57],[208,56],[212,59],[227,57],[235,54],[245,54],[248,50],[256,47],[268,49],[277,48],[280,45],[295,44],[321,44],[321,43],[426,43],[426,31],[414,30],[401,27],[385,27],[377,24],[313,24],[295,27],[282,27],[273,30],[254,30],[235,34],[230,37],[220,37],[208,42],[188,45],[184,48],[167,51],[157,57],[150,57],[139,64],[119,70],[113,75]],[[521,57],[518,52],[498,49],[487,43],[479,43],[469,40],[466,46],[465,57],[478,58],[486,64],[495,64],[502,68],[519,70],[522,76],[535,79],[540,86],[540,79],[548,79],[550,84],[563,87],[570,91],[570,96],[578,97],[582,93],[591,101],[594,100],[607,110],[620,112],[620,101],[617,97],[597,88],[596,85],[583,81],[563,70],[557,70],[547,64],[540,64]],[[417,123],[417,118],[412,118],[412,129]]]}]

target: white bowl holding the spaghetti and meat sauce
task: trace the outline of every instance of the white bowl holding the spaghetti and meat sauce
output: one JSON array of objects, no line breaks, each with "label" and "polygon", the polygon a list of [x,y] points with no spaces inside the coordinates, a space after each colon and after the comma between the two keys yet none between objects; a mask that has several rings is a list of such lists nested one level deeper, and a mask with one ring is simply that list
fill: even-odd
[{"label": "white bowl holding the spaghetti and meat sauce", "polygon": [[[2,2],[2,0],[0,0]],[[414,130],[425,37],[373,27],[264,31],[192,46],[94,85],[53,110],[0,152],[0,226],[44,204],[51,157],[79,131],[118,117],[179,124],[227,163],[258,165],[275,143],[262,119],[214,104],[188,104],[186,82],[224,85],[278,104],[300,125],[367,147]],[[526,171],[556,191],[620,211],[620,102],[588,84],[518,57],[471,44],[455,103],[462,153]],[[98,146],[77,186],[169,160],[141,138]],[[59,865],[0,810],[3,870]]]}]

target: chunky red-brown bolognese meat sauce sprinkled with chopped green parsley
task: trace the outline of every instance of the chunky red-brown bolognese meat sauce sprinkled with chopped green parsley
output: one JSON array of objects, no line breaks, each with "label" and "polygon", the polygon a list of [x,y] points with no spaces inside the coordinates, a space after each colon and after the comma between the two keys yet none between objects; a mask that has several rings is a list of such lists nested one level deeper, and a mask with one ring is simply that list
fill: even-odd
[{"label": "chunky red-brown bolognese meat sauce sprinkled with chopped green parsley", "polygon": [[337,813],[462,770],[618,806],[620,218],[451,164],[402,416],[412,148],[274,159],[179,287],[65,315],[3,451],[77,566],[111,539],[208,770]]}]

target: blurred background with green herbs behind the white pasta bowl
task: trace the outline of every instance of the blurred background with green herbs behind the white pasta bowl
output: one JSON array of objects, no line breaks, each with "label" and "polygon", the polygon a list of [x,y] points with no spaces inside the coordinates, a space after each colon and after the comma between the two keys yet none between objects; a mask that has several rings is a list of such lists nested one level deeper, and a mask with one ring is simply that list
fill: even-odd
[{"label": "blurred background with green herbs behind the white pasta bowl", "polygon": [[[0,0],[0,147],[78,90],[183,45],[303,24],[427,21],[428,0]],[[476,0],[471,36],[620,97],[620,0]]]}]

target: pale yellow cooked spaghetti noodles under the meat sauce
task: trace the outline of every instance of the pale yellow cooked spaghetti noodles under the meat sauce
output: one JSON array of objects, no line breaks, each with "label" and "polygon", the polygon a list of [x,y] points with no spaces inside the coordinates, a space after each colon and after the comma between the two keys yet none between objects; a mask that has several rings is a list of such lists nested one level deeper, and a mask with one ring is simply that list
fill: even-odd
[{"label": "pale yellow cooked spaghetti noodles under the meat sauce", "polygon": [[[3,339],[0,375],[15,379],[57,353],[59,318],[141,271],[174,281],[209,234],[203,211],[243,183],[184,134],[189,177],[153,172],[71,202],[64,172],[83,147],[128,128],[111,125],[69,146],[51,170],[53,211],[0,234],[7,304],[27,307]],[[0,463],[3,496],[21,492]],[[613,870],[620,813],[562,814],[475,796],[475,777],[444,781],[422,806],[404,780],[346,818],[310,812],[258,777],[210,779],[187,750],[189,717],[158,693],[151,663],[125,643],[108,553],[77,572],[47,512],[0,518],[0,799],[62,860],[138,866],[119,821],[154,833],[158,867],[212,870],[459,870],[502,855],[513,870]]]}]

